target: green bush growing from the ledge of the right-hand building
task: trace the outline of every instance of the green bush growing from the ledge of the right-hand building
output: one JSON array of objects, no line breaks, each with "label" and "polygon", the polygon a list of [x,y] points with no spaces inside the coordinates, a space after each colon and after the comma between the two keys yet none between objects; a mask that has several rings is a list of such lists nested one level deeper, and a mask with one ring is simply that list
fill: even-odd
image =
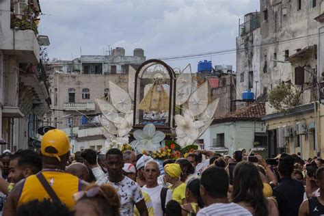
[{"label": "green bush growing from the ledge of the right-hand building", "polygon": [[301,90],[295,85],[280,84],[269,93],[268,99],[270,105],[277,111],[286,112],[289,109],[299,105]]}]

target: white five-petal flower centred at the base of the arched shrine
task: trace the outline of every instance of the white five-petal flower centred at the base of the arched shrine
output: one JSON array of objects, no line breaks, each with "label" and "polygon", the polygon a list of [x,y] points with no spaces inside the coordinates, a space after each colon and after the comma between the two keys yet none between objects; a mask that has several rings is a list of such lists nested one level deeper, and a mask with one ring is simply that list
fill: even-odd
[{"label": "white five-petal flower centred at the base of the arched shrine", "polygon": [[143,131],[137,130],[133,133],[136,141],[132,142],[132,147],[137,150],[137,152],[142,152],[142,150],[158,150],[159,143],[165,138],[165,134],[161,131],[155,131],[154,124],[146,124]]}]

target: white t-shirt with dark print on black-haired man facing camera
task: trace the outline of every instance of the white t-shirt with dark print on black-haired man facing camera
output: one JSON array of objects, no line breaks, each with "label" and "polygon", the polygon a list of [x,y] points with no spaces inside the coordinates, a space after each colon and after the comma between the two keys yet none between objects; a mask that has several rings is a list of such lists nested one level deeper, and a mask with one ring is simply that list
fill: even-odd
[{"label": "white t-shirt with dark print on black-haired man facing camera", "polygon": [[134,204],[144,199],[141,194],[141,187],[127,176],[124,176],[124,179],[119,183],[111,183],[108,176],[105,176],[105,178],[98,180],[97,184],[109,184],[117,189],[120,197],[120,215],[122,216],[133,216]]}]

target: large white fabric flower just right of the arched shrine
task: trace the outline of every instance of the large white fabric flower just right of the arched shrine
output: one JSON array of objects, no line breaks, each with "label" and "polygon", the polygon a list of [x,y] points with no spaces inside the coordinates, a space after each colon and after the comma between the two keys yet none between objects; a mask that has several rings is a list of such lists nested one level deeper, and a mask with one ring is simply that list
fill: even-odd
[{"label": "large white fabric flower just right of the arched shrine", "polygon": [[192,111],[185,110],[183,116],[174,116],[176,121],[176,138],[180,146],[193,144],[193,141],[198,138],[199,129],[204,126],[204,122],[195,121]]}]

